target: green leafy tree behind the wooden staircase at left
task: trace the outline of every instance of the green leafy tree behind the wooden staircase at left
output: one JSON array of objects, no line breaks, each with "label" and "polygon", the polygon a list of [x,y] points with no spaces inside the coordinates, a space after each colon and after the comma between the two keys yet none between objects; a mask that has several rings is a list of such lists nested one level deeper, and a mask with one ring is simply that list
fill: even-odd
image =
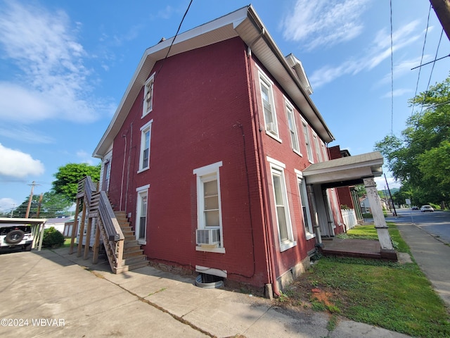
[{"label": "green leafy tree behind the wooden staircase at left", "polygon": [[53,181],[52,189],[57,194],[63,194],[70,201],[77,199],[78,181],[85,176],[91,176],[94,182],[100,180],[101,164],[89,165],[87,163],[68,163],[58,168],[58,173],[54,174],[56,180]]}]

